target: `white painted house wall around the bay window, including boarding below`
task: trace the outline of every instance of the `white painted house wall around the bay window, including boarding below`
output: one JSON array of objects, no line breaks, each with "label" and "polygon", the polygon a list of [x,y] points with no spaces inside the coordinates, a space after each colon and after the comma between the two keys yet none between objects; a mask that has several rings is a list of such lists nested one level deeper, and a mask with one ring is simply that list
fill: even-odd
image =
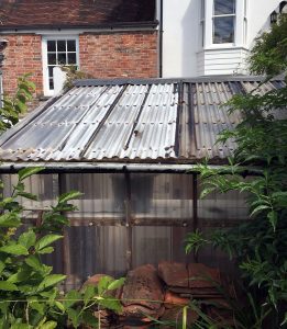
[{"label": "white painted house wall around the bay window, including boarding below", "polygon": [[[240,3],[240,2],[241,3]],[[236,10],[243,10],[238,0]],[[246,0],[247,34],[243,33],[238,45],[217,45],[207,41],[201,47],[200,0],[163,0],[163,77],[196,77],[209,75],[247,73],[245,58],[253,41],[269,27],[269,14],[277,9],[280,0]],[[159,0],[157,0],[159,3]],[[212,0],[207,0],[212,3]],[[211,7],[209,8],[209,11]],[[207,12],[207,9],[206,9]],[[158,14],[159,18],[159,14]],[[211,22],[211,21],[210,21]],[[207,29],[212,24],[207,23]],[[242,23],[239,29],[242,31]]]}]

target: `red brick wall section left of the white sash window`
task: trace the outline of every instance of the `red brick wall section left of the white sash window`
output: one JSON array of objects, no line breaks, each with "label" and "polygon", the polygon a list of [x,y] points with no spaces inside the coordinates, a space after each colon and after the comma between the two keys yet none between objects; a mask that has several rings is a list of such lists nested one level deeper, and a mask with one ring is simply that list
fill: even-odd
[{"label": "red brick wall section left of the white sash window", "polygon": [[4,35],[8,46],[4,50],[3,90],[13,93],[16,79],[31,72],[31,80],[36,84],[36,94],[43,93],[41,36],[35,34]]}]

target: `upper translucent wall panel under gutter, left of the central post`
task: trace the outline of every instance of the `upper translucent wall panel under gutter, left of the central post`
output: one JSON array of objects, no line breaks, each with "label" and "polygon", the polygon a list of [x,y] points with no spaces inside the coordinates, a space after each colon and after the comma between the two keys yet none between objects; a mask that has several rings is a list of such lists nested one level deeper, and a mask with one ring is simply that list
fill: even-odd
[{"label": "upper translucent wall panel under gutter, left of the central post", "polygon": [[124,218],[124,175],[120,173],[70,173],[63,175],[65,191],[84,195],[74,201],[78,212],[69,217]]}]

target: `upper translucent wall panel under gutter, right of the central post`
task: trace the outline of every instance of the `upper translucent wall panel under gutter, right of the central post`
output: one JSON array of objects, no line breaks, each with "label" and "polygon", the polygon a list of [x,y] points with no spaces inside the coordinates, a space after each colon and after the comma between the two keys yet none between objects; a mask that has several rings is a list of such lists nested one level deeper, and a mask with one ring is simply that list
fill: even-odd
[{"label": "upper translucent wall panel under gutter, right of the central post", "polygon": [[131,192],[135,218],[192,218],[191,174],[133,173]]}]

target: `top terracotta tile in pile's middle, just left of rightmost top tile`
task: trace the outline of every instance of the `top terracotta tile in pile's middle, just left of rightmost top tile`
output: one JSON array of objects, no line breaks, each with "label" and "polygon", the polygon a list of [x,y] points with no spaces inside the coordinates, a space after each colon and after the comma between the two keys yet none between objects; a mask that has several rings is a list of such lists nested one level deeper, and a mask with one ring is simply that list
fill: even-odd
[{"label": "top terracotta tile in pile's middle, just left of rightmost top tile", "polygon": [[168,286],[188,287],[188,271],[184,263],[161,262],[158,275]]}]

